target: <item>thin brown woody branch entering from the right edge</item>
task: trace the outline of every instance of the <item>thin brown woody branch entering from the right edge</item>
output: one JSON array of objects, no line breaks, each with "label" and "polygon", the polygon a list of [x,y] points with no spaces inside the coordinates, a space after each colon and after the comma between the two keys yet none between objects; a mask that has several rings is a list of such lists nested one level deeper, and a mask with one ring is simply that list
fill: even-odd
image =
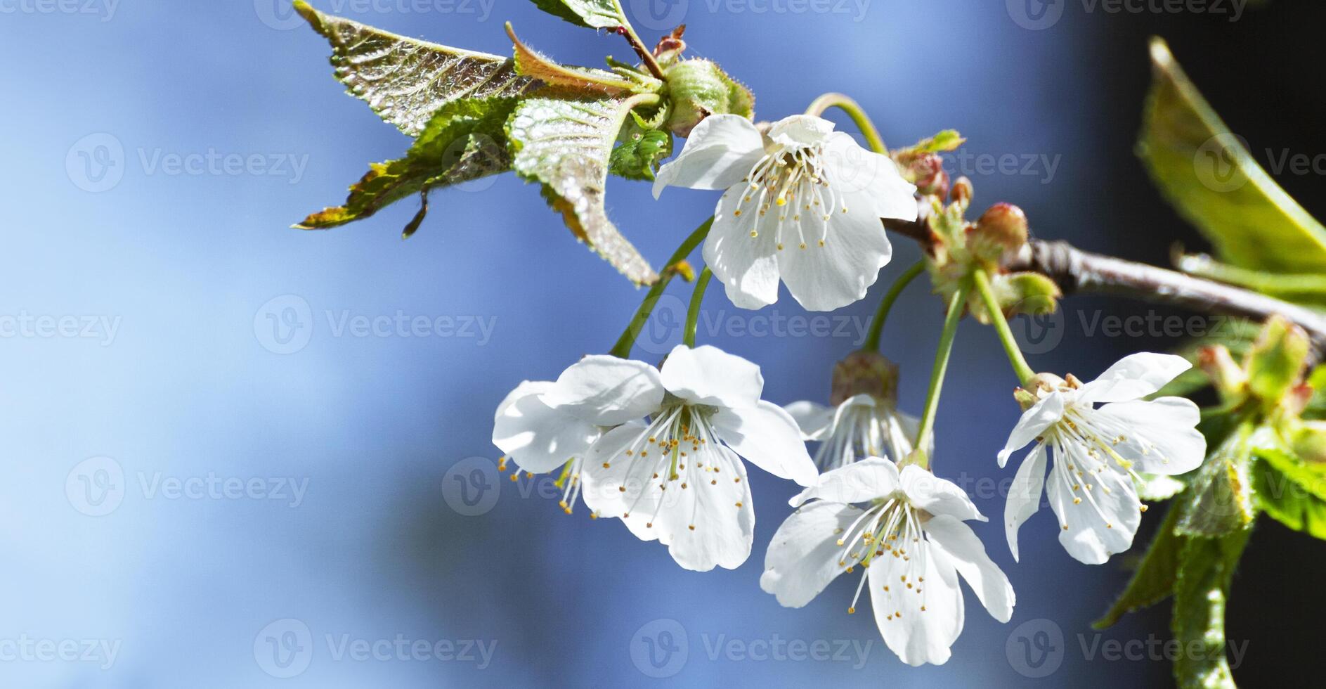
[{"label": "thin brown woody branch entering from the right edge", "polygon": [[[930,230],[922,223],[886,220],[884,227],[915,239],[923,248],[931,243]],[[1318,354],[1326,353],[1326,316],[1250,289],[1144,263],[1090,254],[1067,242],[1038,239],[1030,240],[1006,268],[1044,273],[1054,280],[1065,295],[1116,295],[1257,321],[1280,315],[1307,331]]]}]

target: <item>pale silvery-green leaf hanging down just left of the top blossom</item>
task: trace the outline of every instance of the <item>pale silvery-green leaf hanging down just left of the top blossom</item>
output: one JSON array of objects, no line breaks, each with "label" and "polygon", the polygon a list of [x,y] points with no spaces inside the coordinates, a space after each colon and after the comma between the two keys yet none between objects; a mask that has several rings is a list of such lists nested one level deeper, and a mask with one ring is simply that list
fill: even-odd
[{"label": "pale silvery-green leaf hanging down just left of the top blossom", "polygon": [[516,174],[544,186],[544,196],[572,234],[635,284],[651,284],[658,273],[603,207],[613,143],[642,100],[528,98],[508,119],[507,134]]}]

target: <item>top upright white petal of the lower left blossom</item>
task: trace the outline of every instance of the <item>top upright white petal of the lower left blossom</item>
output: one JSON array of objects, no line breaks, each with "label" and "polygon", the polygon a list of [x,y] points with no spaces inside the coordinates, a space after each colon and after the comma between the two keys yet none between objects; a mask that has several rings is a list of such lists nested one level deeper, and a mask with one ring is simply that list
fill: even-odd
[{"label": "top upright white petal of the lower left blossom", "polygon": [[760,366],[713,345],[676,345],[662,378],[667,392],[700,405],[754,406],[764,392]]}]

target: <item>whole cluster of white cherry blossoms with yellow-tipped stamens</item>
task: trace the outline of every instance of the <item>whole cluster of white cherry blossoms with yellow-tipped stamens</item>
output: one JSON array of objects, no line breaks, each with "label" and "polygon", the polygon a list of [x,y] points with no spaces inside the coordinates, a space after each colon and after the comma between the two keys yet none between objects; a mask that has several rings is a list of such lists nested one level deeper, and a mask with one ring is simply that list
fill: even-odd
[{"label": "whole cluster of white cherry blossoms with yellow-tipped stamens", "polygon": [[[810,115],[764,130],[708,117],[659,170],[655,194],[668,185],[725,190],[704,260],[744,308],[772,304],[780,280],[813,311],[862,299],[891,255],[880,219],[915,220],[923,207],[890,157]],[[955,304],[960,316],[967,301]],[[1014,560],[1042,493],[1073,558],[1099,564],[1131,546],[1146,510],[1135,482],[1191,471],[1205,455],[1196,405],[1147,400],[1188,366],[1142,353],[1086,384],[1022,377],[1024,413],[997,454],[1002,467],[1034,443],[1005,507]],[[896,409],[896,376],[878,353],[855,352],[835,370],[833,406],[780,408],[761,398],[756,364],[709,345],[678,345],[658,368],[586,356],[556,381],[520,384],[497,408],[493,443],[524,471],[561,471],[568,512],[583,499],[593,516],[621,519],[695,571],[751,555],[747,462],[790,479],[804,490],[766,548],[761,587],[802,607],[859,567],[847,611],[869,585],[888,648],[911,665],[941,664],[963,629],[959,579],[1001,623],[1014,593],[967,524],[985,518],[930,470],[930,426]]]}]

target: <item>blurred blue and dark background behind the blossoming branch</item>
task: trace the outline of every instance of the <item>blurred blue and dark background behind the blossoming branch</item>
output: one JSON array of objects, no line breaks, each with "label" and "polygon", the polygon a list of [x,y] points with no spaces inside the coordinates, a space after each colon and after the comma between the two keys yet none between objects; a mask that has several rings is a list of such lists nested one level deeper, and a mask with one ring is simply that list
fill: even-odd
[{"label": "blurred blue and dark background behind the blossoming branch", "polygon": [[[894,146],[959,129],[969,141],[949,171],[972,178],[973,210],[1018,203],[1036,234],[1087,250],[1163,264],[1175,242],[1204,248],[1132,154],[1151,35],[1171,41],[1262,165],[1264,153],[1326,154],[1314,57],[1326,12],[1314,3],[651,1],[627,3],[646,40],[684,21],[690,54],[748,84],[761,118],[841,90]],[[511,20],[566,62],[630,57],[621,38],[528,1],[313,5],[492,53],[509,50]],[[1090,628],[1126,583],[1127,556],[1078,564],[1042,511],[1012,562],[998,515],[1013,470],[998,470],[994,451],[1018,409],[988,329],[960,333],[935,467],[993,516],[976,530],[1018,605],[1004,625],[968,593],[952,660],[911,669],[869,615],[846,615],[854,580],[797,611],[760,591],[789,483],[753,470],[751,560],[695,574],[619,522],[562,515],[550,479],[517,485],[495,471],[497,402],[524,378],[605,352],[642,293],[512,175],[435,194],[408,242],[399,231],[414,202],[328,232],[290,230],[408,139],[343,93],[328,45],[288,3],[0,0],[0,15],[11,65],[0,109],[0,684],[1171,684],[1155,653],[1101,651],[1168,637],[1167,605]],[[1276,175],[1318,216],[1319,171]],[[716,195],[671,190],[664,200],[660,212],[647,185],[610,183],[614,219],[655,264]],[[833,362],[859,345],[883,289],[916,258],[895,244],[870,297],[829,316],[785,292],[740,312],[711,289],[700,339],[761,364],[765,398],[825,401]],[[656,361],[679,341],[687,295],[674,285],[636,356]],[[911,412],[940,308],[916,287],[884,332]],[[1166,315],[1071,299],[1032,362],[1095,376],[1176,340],[1093,324]],[[419,331],[398,325],[416,317]],[[1139,544],[1155,522],[1154,511]],[[1253,539],[1229,607],[1245,686],[1306,682],[1313,613],[1326,603],[1322,552],[1274,523]],[[662,666],[642,656],[646,639],[674,651]],[[831,653],[776,652],[789,641]]]}]

